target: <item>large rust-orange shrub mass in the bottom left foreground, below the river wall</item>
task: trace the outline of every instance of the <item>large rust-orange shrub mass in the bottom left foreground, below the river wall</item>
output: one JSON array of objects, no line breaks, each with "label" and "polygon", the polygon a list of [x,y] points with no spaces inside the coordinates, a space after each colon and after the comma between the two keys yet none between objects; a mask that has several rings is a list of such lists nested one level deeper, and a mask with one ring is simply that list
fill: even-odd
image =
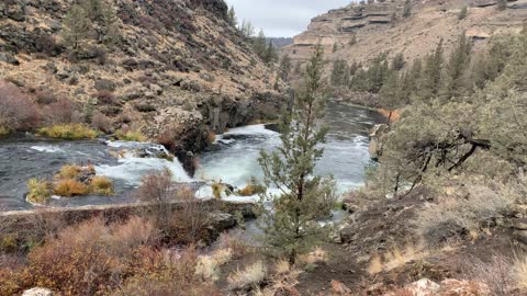
[{"label": "large rust-orange shrub mass in the bottom left foreground, below the river wall", "polygon": [[94,218],[68,227],[29,254],[25,285],[45,286],[61,295],[109,295],[134,274],[170,270],[167,264],[172,263],[164,262],[166,253],[147,246],[155,237],[152,223],[137,217],[122,225]]}]

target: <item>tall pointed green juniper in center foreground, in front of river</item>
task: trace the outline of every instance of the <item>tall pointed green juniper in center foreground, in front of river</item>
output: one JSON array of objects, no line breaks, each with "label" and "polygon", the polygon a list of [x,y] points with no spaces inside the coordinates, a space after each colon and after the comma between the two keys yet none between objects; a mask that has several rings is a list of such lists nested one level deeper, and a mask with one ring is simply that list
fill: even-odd
[{"label": "tall pointed green juniper in center foreground, in front of river", "polygon": [[[323,49],[318,45],[306,67],[304,87],[298,91],[291,113],[281,118],[281,147],[261,151],[259,163],[265,183],[278,194],[261,195],[258,206],[265,246],[271,253],[294,264],[327,238],[328,229],[319,225],[334,206],[334,182],[314,175],[323,155],[327,128],[321,125],[325,113],[326,91],[323,76]],[[266,207],[269,203],[271,208]]]}]

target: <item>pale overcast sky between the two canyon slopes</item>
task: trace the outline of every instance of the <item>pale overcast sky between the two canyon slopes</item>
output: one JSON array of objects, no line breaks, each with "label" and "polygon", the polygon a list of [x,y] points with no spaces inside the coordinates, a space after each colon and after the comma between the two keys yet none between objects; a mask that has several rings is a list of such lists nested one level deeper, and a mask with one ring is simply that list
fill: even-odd
[{"label": "pale overcast sky between the two canyon slopes", "polygon": [[350,0],[225,0],[234,5],[238,22],[249,20],[266,36],[292,37],[304,31],[311,19],[350,3]]}]

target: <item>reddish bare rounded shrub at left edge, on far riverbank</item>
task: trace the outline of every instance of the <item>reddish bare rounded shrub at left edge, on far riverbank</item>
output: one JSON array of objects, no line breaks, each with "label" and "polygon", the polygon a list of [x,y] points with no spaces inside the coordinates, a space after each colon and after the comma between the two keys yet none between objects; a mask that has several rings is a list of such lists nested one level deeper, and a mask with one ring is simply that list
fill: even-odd
[{"label": "reddish bare rounded shrub at left edge, on far riverbank", "polygon": [[20,89],[0,80],[0,129],[2,134],[29,130],[38,124],[38,112],[33,101]]}]

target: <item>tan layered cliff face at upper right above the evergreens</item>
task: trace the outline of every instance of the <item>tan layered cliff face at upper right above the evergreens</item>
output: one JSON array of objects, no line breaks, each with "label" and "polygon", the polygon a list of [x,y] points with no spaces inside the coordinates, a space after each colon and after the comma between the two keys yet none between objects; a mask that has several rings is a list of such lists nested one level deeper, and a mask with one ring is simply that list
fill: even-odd
[{"label": "tan layered cliff face at upper right above the evergreens", "polygon": [[[464,5],[467,18],[459,20]],[[314,18],[307,31],[295,36],[283,53],[302,62],[319,42],[333,60],[365,64],[381,53],[389,57],[403,53],[411,61],[434,50],[441,38],[448,52],[462,32],[473,37],[478,48],[492,35],[520,31],[527,19],[526,0],[508,2],[505,11],[496,5],[496,0],[413,1],[412,15],[403,18],[401,0],[350,4]]]}]

